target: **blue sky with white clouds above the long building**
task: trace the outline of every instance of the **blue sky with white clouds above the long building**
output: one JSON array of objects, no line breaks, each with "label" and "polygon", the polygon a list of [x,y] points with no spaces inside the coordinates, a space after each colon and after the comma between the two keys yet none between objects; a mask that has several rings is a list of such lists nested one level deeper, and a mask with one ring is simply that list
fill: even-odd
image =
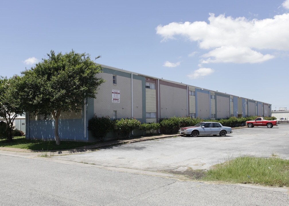
[{"label": "blue sky with white clouds above the long building", "polygon": [[1,76],[73,49],[289,109],[289,0],[1,1],[0,18]]}]

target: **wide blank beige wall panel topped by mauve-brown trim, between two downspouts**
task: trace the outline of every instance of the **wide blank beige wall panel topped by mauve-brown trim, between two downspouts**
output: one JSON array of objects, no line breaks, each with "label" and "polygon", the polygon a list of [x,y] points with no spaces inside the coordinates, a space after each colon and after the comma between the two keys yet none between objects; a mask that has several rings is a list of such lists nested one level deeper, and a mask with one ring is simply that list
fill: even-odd
[{"label": "wide blank beige wall panel topped by mauve-brown trim, between two downspouts", "polygon": [[187,116],[187,89],[160,85],[160,118]]}]

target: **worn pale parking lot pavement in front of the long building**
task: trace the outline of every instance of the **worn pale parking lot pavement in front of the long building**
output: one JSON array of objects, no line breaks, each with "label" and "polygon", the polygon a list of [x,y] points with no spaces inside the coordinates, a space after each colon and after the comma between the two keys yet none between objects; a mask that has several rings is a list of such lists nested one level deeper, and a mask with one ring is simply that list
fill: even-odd
[{"label": "worn pale parking lot pavement in front of the long building", "polygon": [[289,159],[289,124],[235,129],[225,137],[172,137],[55,156],[54,159],[147,171],[209,169],[241,155]]}]

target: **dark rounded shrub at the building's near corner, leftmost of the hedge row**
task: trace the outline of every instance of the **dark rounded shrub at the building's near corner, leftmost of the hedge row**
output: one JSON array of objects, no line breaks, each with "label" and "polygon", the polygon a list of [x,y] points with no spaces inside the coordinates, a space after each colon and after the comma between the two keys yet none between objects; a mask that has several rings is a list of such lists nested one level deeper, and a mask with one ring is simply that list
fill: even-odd
[{"label": "dark rounded shrub at the building's near corner, leftmost of the hedge row", "polygon": [[95,115],[92,119],[88,120],[87,128],[92,132],[94,137],[104,141],[107,133],[113,129],[113,123],[109,116],[97,117]]}]

